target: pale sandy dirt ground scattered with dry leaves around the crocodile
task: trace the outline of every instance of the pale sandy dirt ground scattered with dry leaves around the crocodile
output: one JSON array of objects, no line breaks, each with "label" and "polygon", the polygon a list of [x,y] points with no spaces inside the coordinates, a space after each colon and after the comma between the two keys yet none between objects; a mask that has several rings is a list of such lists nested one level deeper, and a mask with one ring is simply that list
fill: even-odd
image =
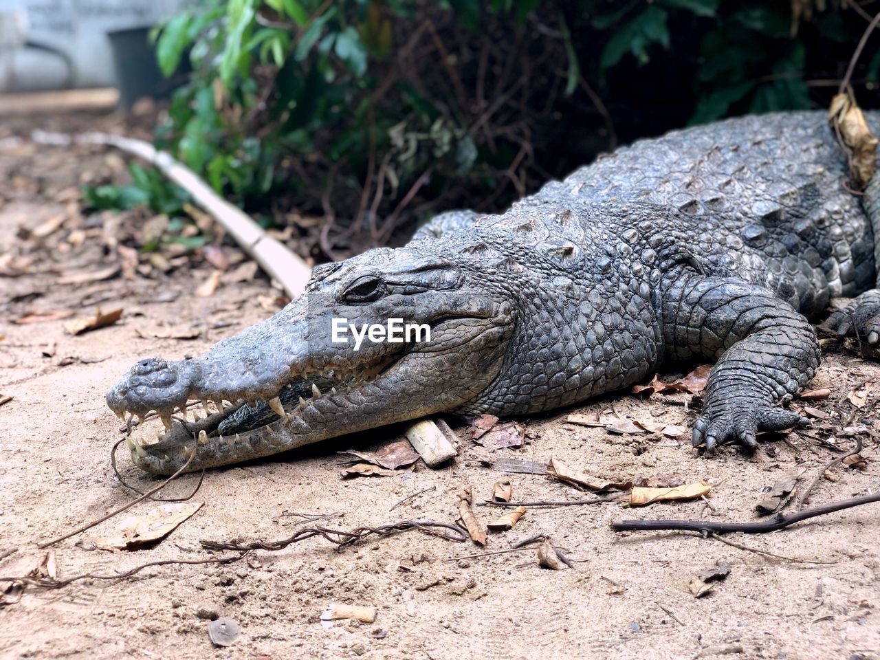
[{"label": "pale sandy dirt ground scattered with dry leaves around the crocodile", "polygon": [[[80,128],[101,121],[55,123]],[[0,406],[0,576],[26,575],[44,557],[38,542],[133,497],[109,460],[121,433],[104,393],[116,378],[143,356],[199,354],[277,309],[268,282],[259,276],[230,276],[234,264],[213,295],[195,295],[214,268],[202,253],[165,255],[173,263],[136,254],[132,263],[131,253],[119,249],[124,243],[120,236],[131,223],[149,218],[85,213],[77,202],[83,180],[123,176],[119,157],[101,150],[34,147],[14,138],[27,124],[9,122],[0,133],[0,176],[8,182],[0,209],[0,393],[13,397]],[[34,235],[57,214],[65,219],[55,231]],[[240,256],[231,247],[224,250],[233,261]],[[60,283],[113,266],[119,272],[106,279]],[[77,336],[64,331],[65,319],[13,322],[31,312],[85,317],[95,304],[105,311],[122,308],[121,320]],[[193,334],[194,339],[174,338]],[[399,439],[400,429],[378,429],[272,460],[213,470],[194,497],[204,502],[201,510],[155,546],[135,552],[96,549],[100,538],[118,529],[121,516],[54,548],[58,577],[64,579],[113,575],[150,561],[232,555],[202,550],[200,539],[282,539],[309,524],[345,530],[406,519],[453,523],[460,488],[470,484],[475,502],[482,502],[493,483],[505,478],[481,462],[499,457],[554,457],[611,480],[707,480],[714,485],[708,502],[634,510],[625,509],[623,500],[530,507],[513,530],[490,532],[485,551],[471,542],[419,532],[368,539],[341,552],[313,538],[225,565],[157,566],[127,579],[87,579],[57,590],[31,587],[20,599],[14,593],[4,596],[8,605],[0,608],[0,656],[880,657],[876,505],[819,517],[784,532],[730,537],[743,546],[823,563],[777,559],[694,534],[617,534],[609,527],[633,517],[753,519],[762,488],[793,472],[801,474],[798,488],[803,490],[821,466],[843,455],[818,439],[849,448],[854,434],[862,436],[867,467],[833,468],[833,480],[818,482],[810,505],[876,489],[880,469],[871,427],[880,385],[863,407],[855,407],[847,394],[866,381],[880,384],[880,368],[834,343],[825,348],[813,387],[828,387],[831,396],[800,404],[831,416],[810,435],[771,438],[753,458],[731,447],[703,458],[686,438],[611,435],[565,422],[571,412],[595,418],[611,406],[642,421],[693,422],[693,412],[683,405],[686,393],[649,400],[621,393],[524,421],[531,438],[518,450],[489,451],[469,439],[466,426],[458,426],[458,458],[438,470],[418,465],[414,472],[390,477],[341,479],[343,457],[337,451],[375,450]],[[146,426],[135,432],[151,434],[158,422]],[[846,426],[856,430],[841,428]],[[136,488],[158,483],[131,466],[125,451],[120,466]],[[197,480],[187,475],[172,483],[167,495],[186,495]],[[591,496],[538,474],[511,474],[510,480],[516,500]],[[393,508],[427,488],[432,490]],[[130,512],[146,513],[156,506],[142,502]],[[794,507],[790,503],[787,510]],[[484,524],[501,513],[488,506],[474,509]],[[326,517],[306,523],[294,513]],[[576,568],[540,568],[534,547],[456,560],[509,549],[539,533],[564,548]],[[693,598],[688,582],[718,561],[730,564],[730,576],[707,596]],[[319,616],[331,603],[372,605],[378,616],[373,623],[341,620],[326,627]],[[236,620],[242,629],[226,649],[209,642],[209,620],[217,616]]]}]

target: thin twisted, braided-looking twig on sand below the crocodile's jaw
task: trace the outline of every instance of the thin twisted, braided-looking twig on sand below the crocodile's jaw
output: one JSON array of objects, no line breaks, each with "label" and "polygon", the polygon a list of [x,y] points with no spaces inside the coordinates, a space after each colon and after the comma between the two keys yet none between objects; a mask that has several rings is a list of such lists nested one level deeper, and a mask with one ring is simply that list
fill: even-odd
[{"label": "thin twisted, braided-looking twig on sand below the crocodile's jaw", "polygon": [[[438,532],[436,531],[437,527],[451,530],[454,534],[450,535],[448,533]],[[464,543],[467,539],[470,539],[467,532],[456,524],[437,523],[434,521],[402,520],[400,523],[382,524],[378,527],[357,527],[348,532],[343,530],[332,530],[327,527],[304,527],[287,539],[275,541],[261,539],[248,542],[202,540],[200,541],[200,544],[206,550],[269,550],[274,552],[277,550],[283,550],[285,547],[298,543],[299,541],[319,536],[322,539],[326,539],[331,543],[336,544],[336,549],[341,550],[343,547],[350,546],[369,536],[385,537],[391,536],[397,532],[409,532],[410,530],[419,530],[420,532],[432,534],[441,539],[455,541],[457,543]]]}]

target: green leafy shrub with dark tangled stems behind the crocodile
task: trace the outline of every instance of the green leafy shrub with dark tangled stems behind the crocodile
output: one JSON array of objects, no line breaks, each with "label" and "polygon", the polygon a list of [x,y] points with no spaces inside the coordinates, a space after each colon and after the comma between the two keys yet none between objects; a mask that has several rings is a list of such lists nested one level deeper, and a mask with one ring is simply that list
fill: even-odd
[{"label": "green leafy shrub with dark tangled stems behind the crocodile", "polygon": [[[502,208],[619,137],[824,105],[810,80],[840,76],[865,22],[796,4],[197,0],[154,35],[165,74],[194,69],[157,143],[248,209],[323,216],[334,257]],[[863,66],[876,80],[880,56]]]}]

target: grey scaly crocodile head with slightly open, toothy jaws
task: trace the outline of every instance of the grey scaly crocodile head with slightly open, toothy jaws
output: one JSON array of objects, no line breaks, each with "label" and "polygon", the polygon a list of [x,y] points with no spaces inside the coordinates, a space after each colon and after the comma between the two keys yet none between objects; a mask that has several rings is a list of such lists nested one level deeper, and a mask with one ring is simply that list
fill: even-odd
[{"label": "grey scaly crocodile head with slightly open, toothy jaws", "polygon": [[[158,442],[129,438],[129,449],[159,474],[192,451],[189,470],[222,466],[463,407],[496,378],[516,320],[484,279],[413,247],[320,266],[281,312],[204,356],[136,363],[107,405],[122,418],[158,414]],[[400,341],[371,341],[389,319]],[[357,341],[351,326],[373,336]],[[219,412],[191,421],[198,401]]]}]

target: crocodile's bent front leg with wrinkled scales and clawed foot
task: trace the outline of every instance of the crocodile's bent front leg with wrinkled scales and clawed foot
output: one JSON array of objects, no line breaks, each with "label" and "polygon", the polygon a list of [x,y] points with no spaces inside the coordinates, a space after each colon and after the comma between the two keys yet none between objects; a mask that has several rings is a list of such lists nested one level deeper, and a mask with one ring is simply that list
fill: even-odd
[{"label": "crocodile's bent front leg with wrinkled scales and clawed foot", "polygon": [[819,363],[809,321],[770,290],[721,277],[682,276],[664,295],[668,355],[717,358],[693,428],[707,450],[737,440],[752,450],[758,431],[810,421],[781,406],[810,382]]}]

